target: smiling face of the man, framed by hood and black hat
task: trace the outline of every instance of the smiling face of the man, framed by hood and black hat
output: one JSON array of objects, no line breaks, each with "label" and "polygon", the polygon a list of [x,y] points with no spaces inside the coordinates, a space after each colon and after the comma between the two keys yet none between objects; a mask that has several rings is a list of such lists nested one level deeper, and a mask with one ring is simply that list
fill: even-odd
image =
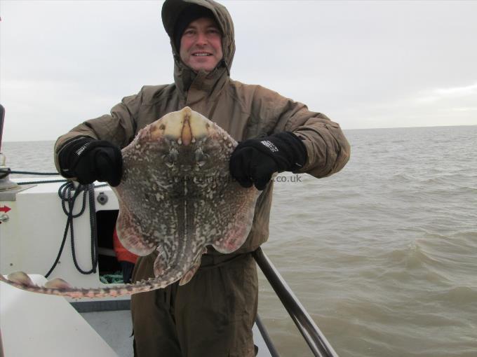
[{"label": "smiling face of the man, framed by hood and black hat", "polygon": [[180,58],[194,71],[210,72],[222,59],[222,34],[210,18],[192,21],[180,38]]}]

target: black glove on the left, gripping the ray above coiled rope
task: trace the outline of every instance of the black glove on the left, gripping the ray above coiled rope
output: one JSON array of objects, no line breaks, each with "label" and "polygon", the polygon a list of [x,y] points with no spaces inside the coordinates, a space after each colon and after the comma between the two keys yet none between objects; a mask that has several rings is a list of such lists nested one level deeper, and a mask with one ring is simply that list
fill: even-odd
[{"label": "black glove on the left, gripping the ray above coiled rope", "polygon": [[123,174],[121,150],[109,141],[81,137],[67,143],[58,156],[61,174],[85,185],[95,180],[118,186]]}]

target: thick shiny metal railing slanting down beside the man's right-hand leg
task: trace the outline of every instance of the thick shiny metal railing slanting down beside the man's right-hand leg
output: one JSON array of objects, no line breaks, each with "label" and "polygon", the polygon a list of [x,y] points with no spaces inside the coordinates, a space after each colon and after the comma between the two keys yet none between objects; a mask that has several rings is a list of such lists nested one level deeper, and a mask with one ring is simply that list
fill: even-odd
[{"label": "thick shiny metal railing slanting down beside the man's right-hand leg", "polygon": [[297,299],[290,286],[287,285],[280,273],[276,270],[262,248],[257,248],[253,253],[253,258],[257,262],[264,276],[269,281],[271,287],[281,303],[290,314],[298,330],[307,342],[311,352],[317,357],[338,357],[335,350],[326,339],[323,332],[304,309],[303,305]]}]

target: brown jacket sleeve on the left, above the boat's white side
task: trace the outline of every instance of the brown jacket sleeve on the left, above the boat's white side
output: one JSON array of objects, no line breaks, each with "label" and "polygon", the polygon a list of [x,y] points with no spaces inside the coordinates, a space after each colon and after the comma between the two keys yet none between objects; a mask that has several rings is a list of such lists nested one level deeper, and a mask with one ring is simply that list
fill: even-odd
[{"label": "brown jacket sleeve on the left, above the boat's white side", "polygon": [[136,118],[142,103],[142,90],[138,94],[124,97],[121,103],[116,104],[109,114],[99,118],[86,120],[66,134],[59,137],[55,143],[55,166],[60,172],[58,155],[65,144],[79,137],[107,140],[123,148],[134,139],[136,132]]}]

